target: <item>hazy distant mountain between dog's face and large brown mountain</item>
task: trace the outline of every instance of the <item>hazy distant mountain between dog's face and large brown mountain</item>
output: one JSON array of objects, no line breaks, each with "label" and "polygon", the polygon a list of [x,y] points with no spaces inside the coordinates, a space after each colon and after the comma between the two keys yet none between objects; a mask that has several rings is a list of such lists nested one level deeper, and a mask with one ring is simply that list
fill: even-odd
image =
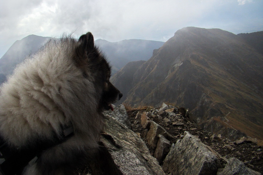
[{"label": "hazy distant mountain between dog's face and large brown mountain", "polygon": [[112,74],[124,67],[128,62],[148,60],[154,49],[160,48],[165,42],[141,39],[129,39],[109,42],[98,39],[95,44],[101,48],[112,65]]}]

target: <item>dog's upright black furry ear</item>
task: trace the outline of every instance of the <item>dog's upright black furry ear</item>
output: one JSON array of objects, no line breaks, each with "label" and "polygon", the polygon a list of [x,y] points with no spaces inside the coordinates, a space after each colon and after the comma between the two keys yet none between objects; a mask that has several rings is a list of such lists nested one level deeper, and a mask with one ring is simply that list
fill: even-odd
[{"label": "dog's upright black furry ear", "polygon": [[93,35],[88,32],[79,37],[76,47],[76,62],[78,65],[87,63],[95,51]]}]

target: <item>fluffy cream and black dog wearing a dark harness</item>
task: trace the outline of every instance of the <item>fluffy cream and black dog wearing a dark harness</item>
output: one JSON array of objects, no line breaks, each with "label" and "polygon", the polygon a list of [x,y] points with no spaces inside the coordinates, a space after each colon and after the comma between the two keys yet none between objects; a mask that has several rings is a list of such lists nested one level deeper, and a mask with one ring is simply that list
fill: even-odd
[{"label": "fluffy cream and black dog wearing a dark harness", "polygon": [[[26,150],[22,155],[29,164],[9,171],[68,175],[92,160],[104,126],[102,112],[113,110],[111,104],[122,97],[110,73],[90,32],[78,40],[50,40],[18,65],[0,89],[0,135],[10,150]],[[32,150],[37,156],[31,160]]]}]

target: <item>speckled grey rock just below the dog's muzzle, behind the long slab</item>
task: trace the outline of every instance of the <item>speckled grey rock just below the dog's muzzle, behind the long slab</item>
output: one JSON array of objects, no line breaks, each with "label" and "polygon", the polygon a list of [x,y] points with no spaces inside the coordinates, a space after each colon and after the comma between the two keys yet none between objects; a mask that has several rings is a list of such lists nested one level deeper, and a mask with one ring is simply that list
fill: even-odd
[{"label": "speckled grey rock just below the dog's muzzle, behind the long slab", "polygon": [[119,122],[131,129],[131,122],[129,121],[129,116],[126,112],[124,105],[115,106],[112,105],[114,111],[107,111],[104,115],[110,115],[113,118],[116,118]]}]

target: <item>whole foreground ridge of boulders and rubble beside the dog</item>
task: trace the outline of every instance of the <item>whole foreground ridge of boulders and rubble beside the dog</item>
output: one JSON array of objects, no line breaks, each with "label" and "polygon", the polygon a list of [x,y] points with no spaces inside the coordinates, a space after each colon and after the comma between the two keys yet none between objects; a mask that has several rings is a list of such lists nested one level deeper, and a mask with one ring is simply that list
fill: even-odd
[{"label": "whole foreground ridge of boulders and rubble beside the dog", "polygon": [[220,134],[210,138],[191,122],[185,108],[163,104],[158,109],[130,109],[127,114],[123,105],[113,107],[105,113],[102,153],[79,174],[259,175],[263,171],[262,146],[256,139],[231,142]]}]

